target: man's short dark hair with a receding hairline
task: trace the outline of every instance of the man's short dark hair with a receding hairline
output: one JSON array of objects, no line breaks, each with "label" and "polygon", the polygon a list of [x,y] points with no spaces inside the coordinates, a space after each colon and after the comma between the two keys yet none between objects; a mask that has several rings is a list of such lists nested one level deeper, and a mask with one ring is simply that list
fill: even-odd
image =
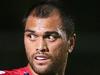
[{"label": "man's short dark hair with a receding hairline", "polygon": [[[27,18],[30,14],[32,14],[32,11],[34,11],[36,17],[39,18],[48,18],[50,14],[53,12],[53,10],[57,9],[60,15],[60,18],[62,20],[62,30],[66,32],[68,36],[72,35],[74,33],[74,22],[71,18],[71,15],[69,15],[68,10],[65,9],[64,5],[61,3],[58,3],[57,1],[43,1],[37,4],[34,4],[26,13],[24,16],[23,23],[25,25]],[[67,12],[66,12],[67,11]]]}]

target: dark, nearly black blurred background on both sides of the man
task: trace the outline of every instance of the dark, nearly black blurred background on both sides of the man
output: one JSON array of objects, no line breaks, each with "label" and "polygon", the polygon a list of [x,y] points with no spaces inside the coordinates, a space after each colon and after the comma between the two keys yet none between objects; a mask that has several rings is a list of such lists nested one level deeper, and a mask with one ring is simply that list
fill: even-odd
[{"label": "dark, nearly black blurred background on both sides of the man", "polygon": [[[22,18],[37,0],[0,1],[0,69],[27,64]],[[100,75],[100,27],[96,0],[66,0],[76,23],[76,47],[69,57],[66,75]],[[96,10],[97,9],[97,10]]]}]

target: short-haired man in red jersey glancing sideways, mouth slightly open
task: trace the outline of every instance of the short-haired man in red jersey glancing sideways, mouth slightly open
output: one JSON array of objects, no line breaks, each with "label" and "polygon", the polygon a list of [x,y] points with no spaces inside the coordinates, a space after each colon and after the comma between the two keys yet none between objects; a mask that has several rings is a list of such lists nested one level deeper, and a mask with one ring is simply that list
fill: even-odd
[{"label": "short-haired man in red jersey glancing sideways, mouth slightly open", "polygon": [[1,75],[64,75],[68,54],[75,45],[74,23],[59,6],[42,2],[24,18],[28,65]]}]

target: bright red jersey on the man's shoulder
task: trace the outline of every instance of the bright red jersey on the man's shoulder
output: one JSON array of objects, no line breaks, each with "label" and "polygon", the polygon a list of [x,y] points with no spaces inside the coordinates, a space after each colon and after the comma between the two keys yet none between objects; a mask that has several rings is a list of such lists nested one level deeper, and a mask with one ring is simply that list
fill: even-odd
[{"label": "bright red jersey on the man's shoulder", "polygon": [[29,66],[13,70],[0,71],[0,75],[32,75]]}]

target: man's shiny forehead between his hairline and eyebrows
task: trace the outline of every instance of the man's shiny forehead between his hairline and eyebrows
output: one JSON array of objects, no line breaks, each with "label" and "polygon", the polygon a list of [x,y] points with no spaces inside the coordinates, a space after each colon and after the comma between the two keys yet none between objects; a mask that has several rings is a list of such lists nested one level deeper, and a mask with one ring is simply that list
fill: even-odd
[{"label": "man's shiny forehead between his hairline and eyebrows", "polygon": [[54,29],[62,25],[59,14],[53,14],[47,18],[39,18],[36,16],[30,15],[27,18],[25,28],[47,28]]}]

